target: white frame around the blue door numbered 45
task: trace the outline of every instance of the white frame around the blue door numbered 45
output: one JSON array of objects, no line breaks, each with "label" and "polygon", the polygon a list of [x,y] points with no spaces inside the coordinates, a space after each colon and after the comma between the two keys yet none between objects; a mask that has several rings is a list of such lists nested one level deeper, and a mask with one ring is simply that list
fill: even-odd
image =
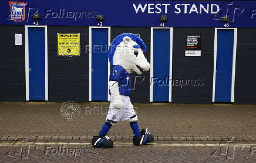
[{"label": "white frame around the blue door numbered 45", "polygon": [[231,82],[231,102],[235,102],[235,58],[237,56],[237,28],[218,28],[215,27],[214,34],[214,64],[213,64],[213,102],[215,102],[215,79],[216,79],[216,61],[217,61],[217,42],[218,29],[234,29],[234,44],[233,44],[233,64],[232,64],[232,82]]}]

